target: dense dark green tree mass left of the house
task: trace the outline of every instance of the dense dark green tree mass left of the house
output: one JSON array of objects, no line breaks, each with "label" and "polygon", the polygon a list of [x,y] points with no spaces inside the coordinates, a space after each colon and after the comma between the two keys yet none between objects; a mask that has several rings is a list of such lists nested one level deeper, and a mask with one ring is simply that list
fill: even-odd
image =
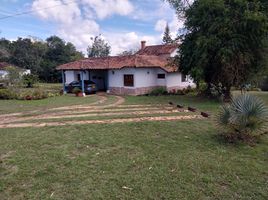
[{"label": "dense dark green tree mass left of the house", "polygon": [[24,69],[30,69],[39,79],[58,82],[58,65],[83,58],[72,43],[66,43],[57,36],[42,40],[18,38],[16,41],[0,39],[0,62],[8,62]]}]

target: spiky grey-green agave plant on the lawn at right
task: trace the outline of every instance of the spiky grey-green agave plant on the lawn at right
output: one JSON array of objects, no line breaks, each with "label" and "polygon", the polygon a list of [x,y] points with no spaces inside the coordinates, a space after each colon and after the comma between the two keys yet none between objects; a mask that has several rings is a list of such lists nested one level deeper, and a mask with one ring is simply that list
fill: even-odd
[{"label": "spiky grey-green agave plant on the lawn at right", "polygon": [[223,105],[217,123],[235,138],[258,135],[266,130],[267,108],[256,96],[243,94]]}]

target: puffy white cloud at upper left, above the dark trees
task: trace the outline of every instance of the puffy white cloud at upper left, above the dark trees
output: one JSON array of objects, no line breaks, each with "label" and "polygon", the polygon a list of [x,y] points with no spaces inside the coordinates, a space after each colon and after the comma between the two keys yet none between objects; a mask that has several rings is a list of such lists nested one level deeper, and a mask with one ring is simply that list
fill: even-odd
[{"label": "puffy white cloud at upper left, above the dark trees", "polygon": [[37,10],[36,15],[39,18],[56,24],[57,35],[74,43],[78,50],[85,51],[86,46],[91,42],[90,38],[99,34],[99,25],[94,20],[83,18],[78,3],[66,2],[35,0],[32,9]]}]

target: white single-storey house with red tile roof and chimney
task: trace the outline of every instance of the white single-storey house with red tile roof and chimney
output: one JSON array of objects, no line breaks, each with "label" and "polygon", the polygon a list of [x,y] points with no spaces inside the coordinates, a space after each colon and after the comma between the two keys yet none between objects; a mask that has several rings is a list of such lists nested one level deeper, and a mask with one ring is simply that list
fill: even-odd
[{"label": "white single-storey house with red tile roof and chimney", "polygon": [[177,44],[146,46],[142,41],[134,55],[86,58],[57,69],[62,71],[64,85],[91,80],[98,90],[117,95],[141,95],[157,87],[168,91],[195,87],[192,79],[170,62],[177,49]]}]

